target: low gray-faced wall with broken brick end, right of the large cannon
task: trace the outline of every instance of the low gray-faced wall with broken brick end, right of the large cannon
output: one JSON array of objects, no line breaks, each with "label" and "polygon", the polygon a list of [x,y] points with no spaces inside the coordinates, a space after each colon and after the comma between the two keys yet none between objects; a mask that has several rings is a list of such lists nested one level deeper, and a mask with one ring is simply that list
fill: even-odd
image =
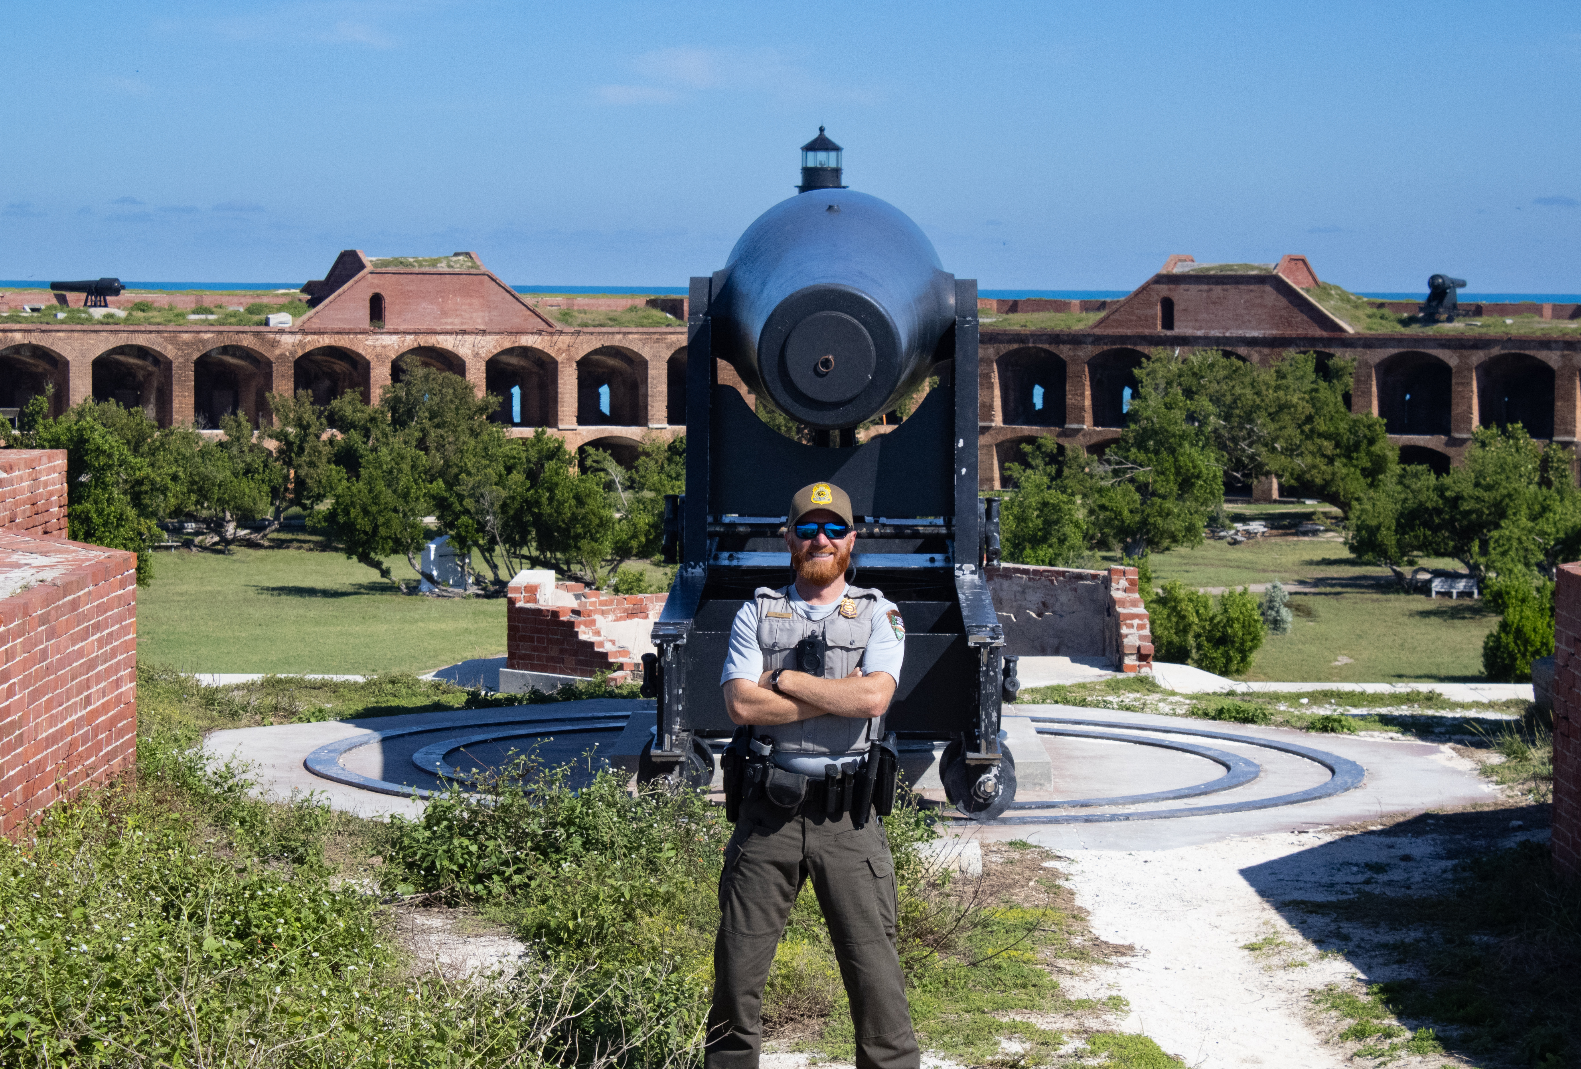
[{"label": "low gray-faced wall with broken brick end, right of the large cannon", "polygon": [[1107,657],[1119,671],[1153,671],[1153,633],[1135,568],[996,564],[985,575],[1007,654]]}]

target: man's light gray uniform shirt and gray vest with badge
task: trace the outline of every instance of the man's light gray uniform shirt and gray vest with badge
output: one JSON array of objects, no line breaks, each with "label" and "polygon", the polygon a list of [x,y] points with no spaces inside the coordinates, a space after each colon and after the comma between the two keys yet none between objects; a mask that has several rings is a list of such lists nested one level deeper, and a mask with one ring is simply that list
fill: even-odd
[{"label": "man's light gray uniform shirt and gray vest with badge", "polygon": [[[855,641],[851,644],[855,649],[851,649],[851,654],[858,657],[857,663],[862,665],[863,673],[881,671],[889,674],[898,684],[901,662],[906,652],[906,630],[904,622],[900,617],[900,610],[895,608],[893,602],[882,597],[876,591],[863,591],[860,587],[849,586],[846,591],[849,591],[852,597],[858,598],[858,605],[863,608],[863,616],[866,616],[866,621],[860,621],[866,624],[866,633],[860,638],[852,636]],[[843,591],[843,594],[846,591]],[[776,660],[776,663],[784,663],[783,658],[787,655],[787,651],[778,654],[776,657],[770,657],[764,651],[762,633],[765,621],[759,619],[759,611],[764,598],[770,597],[770,591],[759,591],[759,595],[760,597],[754,597],[751,602],[743,605],[735,614],[735,622],[730,627],[730,647],[726,655],[724,671],[719,674],[721,687],[732,679],[749,679],[756,682],[770,666],[768,662]],[[786,598],[770,598],[768,605],[770,608],[776,605],[789,608],[789,611],[802,621],[798,627],[792,628],[795,632],[822,630],[814,628],[813,625],[828,621],[840,610],[838,600],[830,605],[808,605],[808,602],[797,592],[795,584],[789,587],[787,595],[789,597]],[[868,611],[870,606],[871,611]],[[776,613],[770,613],[770,616],[775,614]],[[851,621],[849,624],[857,622],[858,621]],[[767,621],[767,624],[778,624],[778,621]],[[824,627],[833,624],[844,625],[840,630],[849,633],[849,624],[844,619],[832,621],[832,624],[825,624]],[[783,632],[786,628],[768,628],[770,633],[775,630]],[[789,640],[781,641],[789,643]],[[828,662],[825,663],[833,665],[838,662],[849,665],[849,654],[841,655],[838,651],[830,649]],[[849,674],[849,670],[840,674]],[[865,720],[854,722],[847,717],[828,715],[803,720],[794,725],[762,728],[762,734],[775,737],[775,761],[778,764],[805,775],[822,775],[824,766],[832,760],[833,763],[844,766],[854,763],[855,758],[866,753],[868,739],[865,730],[868,726],[870,722]],[[808,756],[798,758],[794,756],[795,753],[806,753]],[[851,760],[843,761],[840,758]],[[806,767],[802,767],[803,764]]]}]

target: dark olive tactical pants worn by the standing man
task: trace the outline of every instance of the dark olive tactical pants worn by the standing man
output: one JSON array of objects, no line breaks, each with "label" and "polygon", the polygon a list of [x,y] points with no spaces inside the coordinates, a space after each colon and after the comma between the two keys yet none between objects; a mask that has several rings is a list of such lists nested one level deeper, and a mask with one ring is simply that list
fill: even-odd
[{"label": "dark olive tactical pants worn by the standing man", "polygon": [[786,818],[760,799],[741,805],[724,850],[707,1069],[757,1067],[764,982],[808,878],[851,1000],[857,1069],[917,1069],[922,1055],[895,954],[895,862],[882,824],[874,816],[852,827],[849,813]]}]

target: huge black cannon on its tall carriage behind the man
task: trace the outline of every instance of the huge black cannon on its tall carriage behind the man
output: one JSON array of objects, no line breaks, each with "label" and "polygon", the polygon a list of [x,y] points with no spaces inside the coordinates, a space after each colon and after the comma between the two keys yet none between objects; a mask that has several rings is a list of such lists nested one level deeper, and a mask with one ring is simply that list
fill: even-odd
[{"label": "huge black cannon on its tall carriage behind the man", "polygon": [[[999,709],[1017,684],[983,578],[998,502],[977,496],[977,283],[944,272],[900,210],[841,186],[828,145],[833,167],[803,150],[802,193],[759,216],[723,270],[691,279],[686,494],[666,502],[680,570],[643,658],[658,728],[639,777],[711,777],[707,741],[735,730],[719,688],[730,624],[756,587],[790,581],[786,507],[828,480],[857,513],[854,581],[906,621],[885,728],[903,748],[947,742],[945,791],[988,818],[1015,794]],[[765,425],[716,382],[716,358],[814,442]],[[854,428],[930,379],[909,418],[855,444]]]}]

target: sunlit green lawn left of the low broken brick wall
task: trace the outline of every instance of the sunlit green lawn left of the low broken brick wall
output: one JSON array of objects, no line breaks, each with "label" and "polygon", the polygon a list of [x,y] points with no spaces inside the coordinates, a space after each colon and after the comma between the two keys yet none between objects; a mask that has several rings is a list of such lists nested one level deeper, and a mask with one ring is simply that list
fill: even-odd
[{"label": "sunlit green lawn left of the low broken brick wall", "polygon": [[[504,654],[504,598],[402,595],[310,545],[157,553],[153,584],[138,591],[139,660],[188,673],[370,674]],[[416,578],[403,557],[391,568]]]}]

